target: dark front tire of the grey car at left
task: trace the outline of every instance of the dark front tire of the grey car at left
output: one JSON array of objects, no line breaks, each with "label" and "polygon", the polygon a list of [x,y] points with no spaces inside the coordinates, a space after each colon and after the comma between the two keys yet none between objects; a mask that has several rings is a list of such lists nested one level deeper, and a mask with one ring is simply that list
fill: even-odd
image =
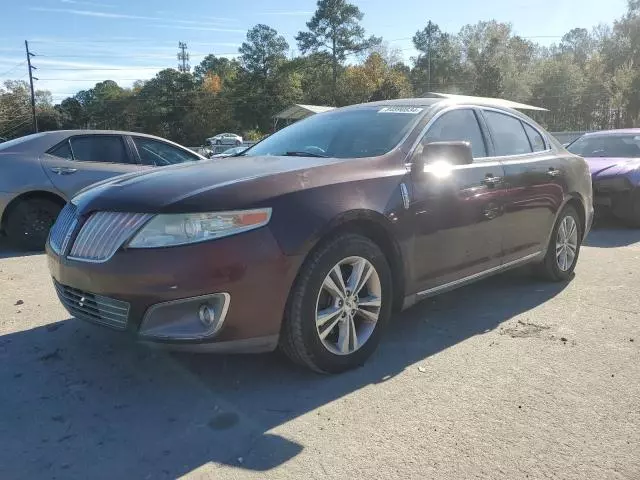
[{"label": "dark front tire of the grey car at left", "polygon": [[5,223],[9,242],[24,250],[43,250],[61,209],[62,205],[47,198],[19,202],[11,208]]}]

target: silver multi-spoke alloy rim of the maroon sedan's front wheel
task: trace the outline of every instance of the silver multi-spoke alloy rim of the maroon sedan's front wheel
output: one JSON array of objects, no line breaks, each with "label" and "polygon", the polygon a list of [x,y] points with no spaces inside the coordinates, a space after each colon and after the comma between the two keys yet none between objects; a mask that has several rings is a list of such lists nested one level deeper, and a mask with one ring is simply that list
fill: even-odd
[{"label": "silver multi-spoke alloy rim of the maroon sedan's front wheel", "polygon": [[322,345],[336,355],[360,349],[376,328],[382,286],[375,267],[362,257],[347,257],[325,277],[316,301],[316,330]]}]

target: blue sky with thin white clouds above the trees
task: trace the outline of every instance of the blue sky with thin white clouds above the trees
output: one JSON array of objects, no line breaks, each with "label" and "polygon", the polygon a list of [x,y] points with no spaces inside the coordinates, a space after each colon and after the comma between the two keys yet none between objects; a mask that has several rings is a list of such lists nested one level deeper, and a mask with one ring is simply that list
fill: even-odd
[{"label": "blue sky with thin white clouds above the trees", "polygon": [[[574,27],[611,24],[626,0],[352,0],[364,12],[367,33],[383,36],[407,60],[411,37],[428,20],[445,31],[480,20],[511,22],[517,34],[539,43],[557,42]],[[295,53],[296,33],[316,7],[314,0],[23,0],[2,7],[0,82],[26,79],[24,40],[55,101],[113,79],[129,86],[175,67],[179,41],[191,64],[208,53],[235,56],[248,28],[265,23],[283,34]]]}]

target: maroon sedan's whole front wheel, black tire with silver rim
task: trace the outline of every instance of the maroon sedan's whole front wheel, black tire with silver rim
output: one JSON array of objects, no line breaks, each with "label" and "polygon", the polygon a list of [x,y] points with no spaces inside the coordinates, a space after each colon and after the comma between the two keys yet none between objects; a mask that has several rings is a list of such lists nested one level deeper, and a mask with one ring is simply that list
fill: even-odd
[{"label": "maroon sedan's whole front wheel, black tire with silver rim", "polygon": [[[336,272],[340,271],[345,286],[349,287],[351,273],[358,267],[364,267],[365,271],[373,269],[369,276],[360,277],[367,280],[358,301],[352,295],[338,303],[338,296],[327,290],[326,279],[336,280],[334,284],[338,285]],[[380,248],[361,235],[339,235],[312,253],[301,268],[287,302],[280,348],[295,363],[319,373],[340,373],[359,367],[378,346],[391,316],[392,298],[391,270]],[[371,305],[378,300],[379,306]],[[317,327],[317,312],[330,309],[342,313]],[[377,321],[373,320],[376,313]],[[357,339],[357,348],[353,338]]]}]

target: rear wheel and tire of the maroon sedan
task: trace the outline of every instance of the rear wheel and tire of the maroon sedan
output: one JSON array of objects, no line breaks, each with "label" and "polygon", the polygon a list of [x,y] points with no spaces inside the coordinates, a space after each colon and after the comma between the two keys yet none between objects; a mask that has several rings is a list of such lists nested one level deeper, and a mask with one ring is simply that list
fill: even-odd
[{"label": "rear wheel and tire of the maroon sedan", "polygon": [[[571,225],[575,225],[575,234],[571,233],[573,232]],[[562,239],[562,231],[566,231],[567,228],[569,229],[570,237],[565,243]],[[558,219],[551,232],[551,238],[549,239],[544,260],[537,265],[536,270],[539,277],[551,282],[564,282],[571,278],[580,255],[582,228],[578,212],[576,212],[574,207],[567,205],[562,212],[560,212],[560,215],[558,215]],[[566,248],[562,249],[559,247],[560,244],[566,245]],[[569,248],[570,244],[574,244],[575,254],[573,258],[571,258],[571,252],[573,250]],[[560,254],[558,254],[559,248]],[[567,253],[566,258],[563,252]]]}]

